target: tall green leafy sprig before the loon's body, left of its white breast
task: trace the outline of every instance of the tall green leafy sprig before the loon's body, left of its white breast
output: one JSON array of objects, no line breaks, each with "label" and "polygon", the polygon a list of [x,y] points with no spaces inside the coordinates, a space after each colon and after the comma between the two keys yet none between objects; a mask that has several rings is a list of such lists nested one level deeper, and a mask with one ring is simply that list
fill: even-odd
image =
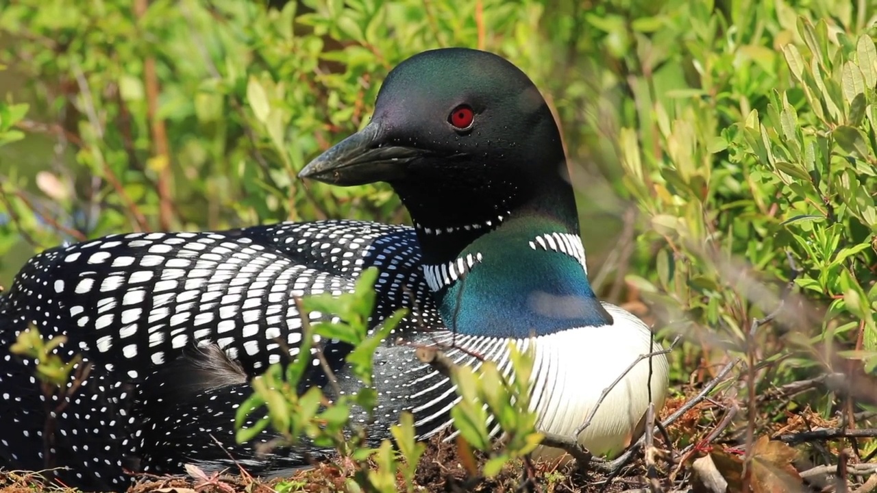
[{"label": "tall green leafy sprig before the loon's body, left of its white breast", "polygon": [[[377,405],[377,391],[373,386],[374,350],[404,315],[404,311],[396,311],[371,334],[368,333],[367,322],[374,308],[374,282],[377,276],[377,268],[368,268],[351,293],[339,297],[314,295],[303,298],[300,304],[303,320],[310,319],[311,312],[319,311],[332,315],[332,321],[304,324],[302,343],[294,361],[286,368],[281,364],[271,365],[263,375],[253,379],[253,396],[238,409],[237,439],[239,442],[253,439],[270,425],[282,436],[282,442],[276,443],[277,446],[300,445],[302,439],[307,438],[319,447],[339,450],[354,461],[356,477],[360,485],[369,491],[396,491],[397,472],[402,473],[408,490],[413,491],[414,468],[424,452],[424,445],[414,439],[414,421],[410,415],[403,415],[400,424],[391,429],[403,462],[396,459],[396,452],[389,440],[383,440],[376,449],[366,447],[367,429],[351,418],[351,412],[355,409],[367,414],[367,422],[374,417]],[[327,398],[324,389],[318,387],[310,387],[299,394],[299,382],[305,372],[314,366],[312,358],[316,357],[323,368],[330,368],[320,346],[320,340],[330,339],[338,339],[354,347],[346,356],[346,361],[353,375],[360,380],[361,388],[344,395],[334,392],[334,400]],[[329,371],[331,375],[331,369]],[[334,387],[334,378],[334,375],[330,376],[333,381],[330,390]],[[258,418],[253,425],[243,426],[247,418],[260,416],[260,412],[266,415]],[[369,458],[378,466],[374,470],[368,470]]]}]

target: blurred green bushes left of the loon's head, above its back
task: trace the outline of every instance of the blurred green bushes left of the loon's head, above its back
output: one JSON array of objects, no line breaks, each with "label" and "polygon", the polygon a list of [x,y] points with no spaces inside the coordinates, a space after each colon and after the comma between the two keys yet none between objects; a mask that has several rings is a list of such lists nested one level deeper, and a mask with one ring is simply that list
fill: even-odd
[{"label": "blurred green bushes left of the loon's head, above its back", "polygon": [[[491,27],[485,45],[535,32],[537,4],[482,7]],[[479,39],[475,4],[450,0],[427,11],[414,0],[294,1],[280,10],[159,1],[143,12],[130,2],[17,0],[0,12],[0,30],[16,39],[0,61],[33,81],[31,118],[63,120],[28,128],[63,131],[55,136],[75,145],[69,171],[53,173],[76,193],[52,209],[83,237],[395,217],[398,200],[386,187],[330,189],[299,182],[297,171],[367,123],[381,80],[399,61]],[[23,227],[43,247],[70,236]]]}]

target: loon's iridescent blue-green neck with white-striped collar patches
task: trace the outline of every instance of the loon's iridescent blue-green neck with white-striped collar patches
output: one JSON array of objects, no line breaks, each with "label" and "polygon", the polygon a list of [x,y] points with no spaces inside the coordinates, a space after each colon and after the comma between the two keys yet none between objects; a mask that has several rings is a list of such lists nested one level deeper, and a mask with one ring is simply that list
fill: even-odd
[{"label": "loon's iridescent blue-green neck with white-striped collar patches", "polygon": [[424,279],[452,330],[526,338],[612,325],[588,284],[578,235],[538,218],[511,218],[451,261],[424,263]]}]

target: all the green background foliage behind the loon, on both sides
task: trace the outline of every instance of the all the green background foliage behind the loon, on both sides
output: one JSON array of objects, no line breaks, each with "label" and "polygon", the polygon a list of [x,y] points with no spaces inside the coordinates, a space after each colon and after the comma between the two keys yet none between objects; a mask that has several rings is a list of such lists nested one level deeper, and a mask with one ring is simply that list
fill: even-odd
[{"label": "all the green background foliage behind the loon, on both sides", "polygon": [[[398,62],[478,47],[544,92],[595,289],[688,336],[677,382],[733,354],[751,396],[826,370],[871,382],[873,2],[3,4],[2,284],[40,249],[112,232],[405,222],[385,185],[296,172],[367,123]],[[766,405],[828,418],[873,388]]]}]

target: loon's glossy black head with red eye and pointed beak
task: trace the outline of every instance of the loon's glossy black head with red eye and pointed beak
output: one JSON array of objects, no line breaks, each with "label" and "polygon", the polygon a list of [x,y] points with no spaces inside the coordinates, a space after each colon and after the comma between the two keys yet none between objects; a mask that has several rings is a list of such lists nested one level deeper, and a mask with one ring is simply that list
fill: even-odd
[{"label": "loon's glossy black head with red eye and pointed beak", "polygon": [[578,234],[552,113],[524,72],[488,52],[444,48],[403,61],[381,86],[370,123],[300,176],[388,182],[427,260],[457,254],[516,215],[550,218]]}]

